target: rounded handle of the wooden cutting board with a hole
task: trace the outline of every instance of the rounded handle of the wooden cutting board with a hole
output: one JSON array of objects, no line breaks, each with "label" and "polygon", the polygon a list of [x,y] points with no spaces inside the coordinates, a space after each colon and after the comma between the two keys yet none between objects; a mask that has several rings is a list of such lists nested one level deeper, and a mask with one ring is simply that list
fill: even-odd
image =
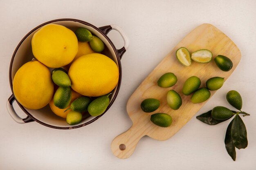
[{"label": "rounded handle of the wooden cutting board with a hole", "polygon": [[121,159],[126,159],[132,155],[141,137],[145,136],[144,130],[132,127],[121,135],[117,136],[111,143],[113,154]]}]

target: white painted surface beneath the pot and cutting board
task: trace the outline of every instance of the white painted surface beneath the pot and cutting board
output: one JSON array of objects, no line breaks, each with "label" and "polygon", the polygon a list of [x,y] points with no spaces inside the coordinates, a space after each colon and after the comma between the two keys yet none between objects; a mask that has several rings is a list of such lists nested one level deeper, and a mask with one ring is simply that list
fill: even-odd
[{"label": "white painted surface beneath the pot and cutting board", "polygon": [[[256,1],[255,0],[0,0],[0,169],[1,170],[255,170],[256,169]],[[122,62],[119,95],[101,119],[74,130],[56,130],[36,122],[17,124],[6,109],[11,95],[9,63],[14,49],[31,29],[58,18],[76,18],[95,26],[117,24],[130,39]],[[249,145],[234,162],[225,150],[225,122],[216,126],[195,117],[166,141],[143,137],[125,160],[112,155],[110,144],[132,125],[126,102],[141,81],[192,29],[210,23],[233,40],[240,64],[196,114],[229,106],[225,94],[243,97],[242,117]],[[109,37],[120,48],[121,36]],[[24,116],[24,115],[23,115]]]}]

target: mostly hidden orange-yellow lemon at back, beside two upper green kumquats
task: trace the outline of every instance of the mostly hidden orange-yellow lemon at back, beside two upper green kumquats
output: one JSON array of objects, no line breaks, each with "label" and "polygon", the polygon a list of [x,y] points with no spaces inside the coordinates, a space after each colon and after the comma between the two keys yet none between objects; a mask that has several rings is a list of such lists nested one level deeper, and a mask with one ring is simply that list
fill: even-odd
[{"label": "mostly hidden orange-yellow lemon at back, beside two upper green kumquats", "polygon": [[[74,60],[78,59],[82,55],[91,54],[91,53],[95,53],[95,52],[90,47],[89,42],[78,42],[78,51],[72,62],[74,62]],[[68,70],[70,68],[70,65],[72,64],[72,62],[64,66],[65,70]]]}]

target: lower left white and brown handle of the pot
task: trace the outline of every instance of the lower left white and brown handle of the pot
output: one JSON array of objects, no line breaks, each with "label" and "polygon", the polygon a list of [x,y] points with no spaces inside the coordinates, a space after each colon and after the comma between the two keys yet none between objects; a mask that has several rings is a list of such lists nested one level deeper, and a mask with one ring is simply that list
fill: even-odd
[{"label": "lower left white and brown handle of the pot", "polygon": [[9,113],[9,115],[11,116],[11,118],[13,118],[13,120],[15,120],[17,123],[19,124],[25,124],[27,122],[31,122],[34,121],[33,119],[31,119],[31,117],[27,116],[26,118],[21,118],[18,116],[18,114],[15,112],[14,108],[13,108],[13,102],[14,102],[15,98],[14,95],[12,94],[9,99],[7,100],[7,111]]}]

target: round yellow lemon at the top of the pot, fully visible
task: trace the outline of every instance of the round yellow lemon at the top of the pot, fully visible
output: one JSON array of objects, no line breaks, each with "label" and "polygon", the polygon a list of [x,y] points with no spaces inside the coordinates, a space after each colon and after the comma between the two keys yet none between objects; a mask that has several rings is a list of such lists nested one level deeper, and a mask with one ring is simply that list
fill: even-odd
[{"label": "round yellow lemon at the top of the pot, fully visible", "polygon": [[36,59],[50,68],[59,68],[72,62],[78,51],[78,40],[70,29],[58,24],[40,28],[31,41]]}]

